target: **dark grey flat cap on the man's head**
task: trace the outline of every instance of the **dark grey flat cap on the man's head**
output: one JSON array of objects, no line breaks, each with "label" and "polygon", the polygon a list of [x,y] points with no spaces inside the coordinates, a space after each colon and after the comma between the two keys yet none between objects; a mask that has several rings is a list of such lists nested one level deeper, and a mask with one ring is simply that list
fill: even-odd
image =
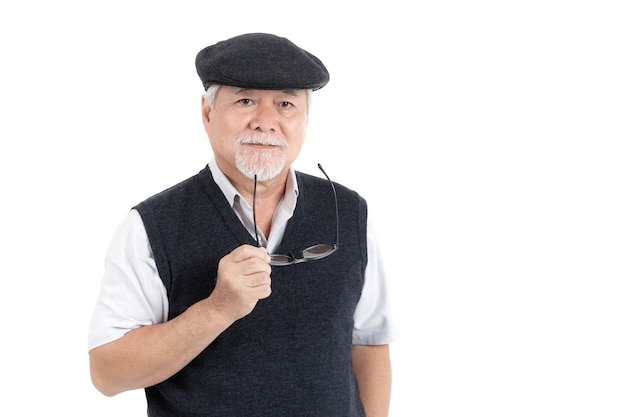
[{"label": "dark grey flat cap on the man's head", "polygon": [[248,33],[207,46],[196,56],[205,90],[213,84],[262,90],[319,90],[329,80],[317,57],[286,38]]}]

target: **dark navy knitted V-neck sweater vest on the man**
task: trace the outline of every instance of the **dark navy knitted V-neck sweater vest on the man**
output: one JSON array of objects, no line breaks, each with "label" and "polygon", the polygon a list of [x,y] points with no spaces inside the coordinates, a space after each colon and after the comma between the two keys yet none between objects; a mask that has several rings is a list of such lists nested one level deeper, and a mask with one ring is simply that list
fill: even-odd
[{"label": "dark navy knitted V-neck sweater vest on the man", "polygon": [[[299,196],[276,253],[335,240],[327,180],[296,173]],[[367,265],[367,205],[335,184],[339,244],[330,256],[272,267],[272,294],[186,367],[146,388],[151,417],[364,417],[352,369],[354,312]],[[211,172],[135,207],[144,222],[169,319],[208,297],[219,260],[255,241]]]}]

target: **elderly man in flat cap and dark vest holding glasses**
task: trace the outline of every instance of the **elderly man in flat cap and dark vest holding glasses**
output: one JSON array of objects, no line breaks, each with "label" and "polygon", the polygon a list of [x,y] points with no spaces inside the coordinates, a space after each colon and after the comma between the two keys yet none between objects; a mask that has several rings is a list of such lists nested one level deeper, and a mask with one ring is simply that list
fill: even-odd
[{"label": "elderly man in flat cap and dark vest holding glasses", "polygon": [[134,206],[89,331],[95,387],[149,416],[386,416],[394,331],[365,200],[292,168],[322,62],[288,39],[200,51],[213,158]]}]

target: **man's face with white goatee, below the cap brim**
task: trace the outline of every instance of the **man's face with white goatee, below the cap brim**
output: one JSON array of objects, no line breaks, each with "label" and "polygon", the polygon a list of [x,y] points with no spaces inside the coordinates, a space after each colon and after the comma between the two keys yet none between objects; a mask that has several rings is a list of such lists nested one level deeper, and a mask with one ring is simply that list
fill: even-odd
[{"label": "man's face with white goatee, below the cap brim", "polygon": [[214,108],[203,100],[204,127],[226,176],[266,181],[285,174],[304,143],[307,106],[305,90],[223,86]]}]

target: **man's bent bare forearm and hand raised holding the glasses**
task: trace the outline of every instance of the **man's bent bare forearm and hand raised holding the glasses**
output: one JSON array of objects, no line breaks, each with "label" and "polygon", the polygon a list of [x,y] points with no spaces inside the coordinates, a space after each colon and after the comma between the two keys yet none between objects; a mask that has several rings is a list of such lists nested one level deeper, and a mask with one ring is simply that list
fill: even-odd
[{"label": "man's bent bare forearm and hand raised holding the glasses", "polygon": [[165,323],[131,330],[89,352],[91,379],[104,395],[162,382],[191,362],[258,300],[271,294],[264,248],[240,246],[220,260],[214,291]]}]

